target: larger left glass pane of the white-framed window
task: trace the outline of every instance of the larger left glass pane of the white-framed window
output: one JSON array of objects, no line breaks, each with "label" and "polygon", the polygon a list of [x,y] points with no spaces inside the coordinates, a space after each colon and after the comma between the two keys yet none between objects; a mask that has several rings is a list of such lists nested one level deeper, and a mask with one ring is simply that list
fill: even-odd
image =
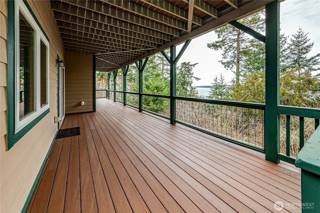
[{"label": "larger left glass pane of the white-framed window", "polygon": [[20,120],[35,110],[34,87],[34,29],[19,12],[19,118]]}]

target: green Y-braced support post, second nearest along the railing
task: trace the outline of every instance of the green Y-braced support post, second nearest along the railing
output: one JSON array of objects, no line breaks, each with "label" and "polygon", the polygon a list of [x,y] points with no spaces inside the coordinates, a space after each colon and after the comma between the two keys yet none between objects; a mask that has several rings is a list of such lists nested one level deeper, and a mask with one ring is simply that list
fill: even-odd
[{"label": "green Y-braced support post, second nearest along the railing", "polygon": [[176,118],[176,102],[174,98],[174,96],[176,95],[176,64],[190,42],[191,42],[191,39],[186,40],[177,55],[176,55],[175,46],[170,46],[170,57],[164,51],[161,51],[165,59],[170,63],[170,123],[171,124],[175,124],[175,118]]}]

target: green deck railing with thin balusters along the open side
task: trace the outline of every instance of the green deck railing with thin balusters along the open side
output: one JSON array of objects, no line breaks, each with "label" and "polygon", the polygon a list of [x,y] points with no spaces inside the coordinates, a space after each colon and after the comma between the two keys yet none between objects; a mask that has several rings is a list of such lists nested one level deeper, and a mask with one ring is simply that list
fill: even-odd
[{"label": "green deck railing with thin balusters along the open side", "polygon": [[[114,90],[97,89],[96,97],[113,99]],[[115,101],[139,108],[139,93],[115,91]],[[141,110],[170,118],[170,96],[141,93]],[[264,152],[265,104],[174,96],[174,121],[218,138]],[[319,126],[320,109],[277,107],[280,122],[278,158],[294,163],[298,151]],[[312,124],[311,124],[312,123]],[[298,132],[298,133],[297,133]],[[297,136],[298,135],[298,136]]]}]

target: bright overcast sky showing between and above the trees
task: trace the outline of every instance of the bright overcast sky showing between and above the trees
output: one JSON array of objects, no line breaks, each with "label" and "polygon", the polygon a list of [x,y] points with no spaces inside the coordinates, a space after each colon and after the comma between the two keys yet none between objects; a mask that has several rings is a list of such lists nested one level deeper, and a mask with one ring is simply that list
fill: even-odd
[{"label": "bright overcast sky showing between and above the trees", "polygon": [[[289,35],[296,33],[301,27],[308,32],[308,38],[314,42],[309,56],[320,52],[320,0],[285,0],[280,3],[280,33]],[[215,75],[223,74],[225,82],[234,78],[234,73],[226,70],[220,62],[221,52],[206,46],[217,39],[214,31],[191,40],[179,62],[190,61],[198,64],[193,68],[194,76],[201,78],[193,85],[210,85]],[[288,40],[289,41],[289,40]],[[183,44],[177,46],[177,52]]]}]

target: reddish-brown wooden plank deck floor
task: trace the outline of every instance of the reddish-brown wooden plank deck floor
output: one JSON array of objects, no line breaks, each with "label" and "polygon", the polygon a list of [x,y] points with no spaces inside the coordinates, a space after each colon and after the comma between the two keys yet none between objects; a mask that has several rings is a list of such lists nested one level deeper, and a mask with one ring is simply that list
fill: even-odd
[{"label": "reddish-brown wooden plank deck floor", "polygon": [[66,115],[30,212],[301,212],[300,170],[100,98]]}]

